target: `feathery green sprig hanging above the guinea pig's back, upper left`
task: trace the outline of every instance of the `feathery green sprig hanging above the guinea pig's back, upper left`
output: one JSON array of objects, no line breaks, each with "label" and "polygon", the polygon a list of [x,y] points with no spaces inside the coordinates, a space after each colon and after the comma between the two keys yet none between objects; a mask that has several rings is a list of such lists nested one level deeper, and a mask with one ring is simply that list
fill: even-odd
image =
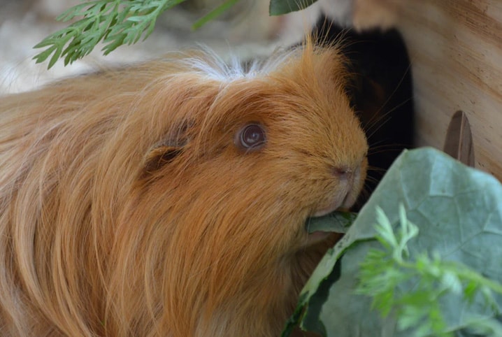
[{"label": "feathery green sprig hanging above the guinea pig's back, upper left", "polygon": [[104,55],[108,55],[120,45],[130,45],[147,38],[155,27],[157,17],[185,0],[96,0],[80,3],[56,20],[68,22],[79,20],[68,27],[46,37],[34,48],[45,48],[34,57],[36,63],[44,62],[50,55],[48,68],[59,57],[64,64],[72,63],[88,55],[103,41]]}]

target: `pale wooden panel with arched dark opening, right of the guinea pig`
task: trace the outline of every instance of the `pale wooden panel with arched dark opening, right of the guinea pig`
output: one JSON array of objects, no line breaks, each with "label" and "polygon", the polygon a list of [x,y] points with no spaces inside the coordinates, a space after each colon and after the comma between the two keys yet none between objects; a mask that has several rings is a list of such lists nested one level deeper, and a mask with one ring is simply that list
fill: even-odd
[{"label": "pale wooden panel with arched dark opening, right of the guinea pig", "polygon": [[464,158],[473,152],[476,168],[502,180],[502,1],[358,0],[354,24],[395,25],[403,34],[413,69],[416,145],[443,149],[450,120],[461,110],[472,145],[457,116],[448,146],[471,151]]}]

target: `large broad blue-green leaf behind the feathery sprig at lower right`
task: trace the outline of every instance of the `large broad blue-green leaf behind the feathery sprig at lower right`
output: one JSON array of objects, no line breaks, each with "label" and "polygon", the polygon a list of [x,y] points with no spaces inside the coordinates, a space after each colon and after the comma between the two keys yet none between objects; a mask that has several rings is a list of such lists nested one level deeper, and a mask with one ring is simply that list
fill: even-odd
[{"label": "large broad blue-green leaf behind the feathery sprig at lower right", "polygon": [[[371,296],[356,292],[361,263],[368,252],[382,248],[375,231],[378,209],[387,215],[394,231],[399,231],[400,207],[418,227],[417,236],[407,243],[410,259],[433,256],[466,266],[495,283],[502,281],[502,185],[492,175],[468,168],[438,150],[406,151],[387,171],[343,239],[315,269],[284,336],[296,324],[322,336],[419,335],[413,326],[399,327],[395,311],[384,317],[371,308]],[[418,282],[411,278],[399,284],[396,294],[412,293]],[[487,304],[482,295],[468,300],[467,290],[437,302],[426,299],[431,308],[436,304],[440,308],[446,333],[480,336],[464,328],[500,320],[502,296],[485,293],[492,296]],[[424,301],[416,297],[415,301]],[[424,307],[428,309],[427,304]],[[421,336],[427,335],[422,331]]]}]

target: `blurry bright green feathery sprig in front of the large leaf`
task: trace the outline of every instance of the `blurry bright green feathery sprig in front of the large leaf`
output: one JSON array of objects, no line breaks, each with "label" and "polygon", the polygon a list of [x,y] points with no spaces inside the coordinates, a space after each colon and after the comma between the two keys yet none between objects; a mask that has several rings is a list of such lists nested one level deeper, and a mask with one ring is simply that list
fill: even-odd
[{"label": "blurry bright green feathery sprig in front of the large leaf", "polygon": [[[357,294],[373,298],[372,306],[387,317],[397,317],[398,329],[411,329],[413,336],[453,336],[445,322],[440,299],[448,295],[462,296],[473,303],[482,295],[487,308],[496,311],[494,293],[502,294],[502,285],[489,280],[458,262],[442,261],[438,254],[419,254],[415,260],[408,251],[408,242],[417,236],[418,227],[399,209],[401,228],[395,234],[389,219],[377,208],[378,241],[382,250],[371,249],[361,263]],[[408,292],[403,292],[403,285]],[[498,313],[500,315],[500,313]],[[496,320],[473,321],[469,327],[475,333],[502,336],[502,326]],[[460,329],[460,328],[459,328]]]}]

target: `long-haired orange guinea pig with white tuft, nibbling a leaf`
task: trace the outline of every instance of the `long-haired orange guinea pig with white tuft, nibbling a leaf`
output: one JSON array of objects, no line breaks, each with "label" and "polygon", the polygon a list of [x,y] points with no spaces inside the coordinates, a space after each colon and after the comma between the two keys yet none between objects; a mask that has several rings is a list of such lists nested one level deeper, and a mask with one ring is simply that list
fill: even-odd
[{"label": "long-haired orange guinea pig with white tuft, nibbling a leaf", "polygon": [[1,336],[278,336],[368,145],[336,48],[0,99]]}]

